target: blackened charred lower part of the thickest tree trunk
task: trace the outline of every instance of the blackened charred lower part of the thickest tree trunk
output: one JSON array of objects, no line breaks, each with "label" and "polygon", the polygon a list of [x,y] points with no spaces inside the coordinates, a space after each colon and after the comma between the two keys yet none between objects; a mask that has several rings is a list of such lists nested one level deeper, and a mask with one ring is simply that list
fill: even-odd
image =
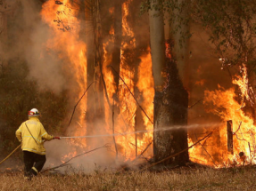
[{"label": "blackened charred lower part of the thickest tree trunk", "polygon": [[[154,160],[160,161],[185,149],[187,146],[187,105],[188,94],[178,77],[175,60],[166,59],[167,84],[162,92],[154,96]],[[167,131],[161,131],[167,128]],[[184,165],[188,162],[188,153],[178,155],[165,164]]]}]

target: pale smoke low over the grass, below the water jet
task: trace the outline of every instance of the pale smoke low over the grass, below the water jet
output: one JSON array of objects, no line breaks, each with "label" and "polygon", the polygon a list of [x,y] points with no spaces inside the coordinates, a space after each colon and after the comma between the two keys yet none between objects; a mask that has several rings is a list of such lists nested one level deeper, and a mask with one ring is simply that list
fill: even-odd
[{"label": "pale smoke low over the grass, below the water jet", "polygon": [[[53,168],[67,163],[67,166],[59,168],[57,171],[95,171],[105,168],[117,168],[114,152],[104,146],[104,141],[99,147],[79,147],[81,139],[73,139],[72,141],[61,139],[45,142],[46,163],[44,169]],[[76,144],[77,146],[75,147]],[[96,149],[95,151],[92,151]],[[87,153],[88,152],[88,153]],[[87,154],[85,154],[87,153]],[[79,155],[79,156],[78,156]],[[76,157],[78,156],[78,157]],[[103,169],[102,169],[103,168]]]}]

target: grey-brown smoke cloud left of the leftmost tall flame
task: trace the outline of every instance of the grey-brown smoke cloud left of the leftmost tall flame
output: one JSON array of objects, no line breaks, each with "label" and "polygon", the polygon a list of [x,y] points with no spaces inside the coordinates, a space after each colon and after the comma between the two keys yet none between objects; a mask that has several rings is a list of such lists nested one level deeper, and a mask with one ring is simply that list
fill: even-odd
[{"label": "grey-brown smoke cloud left of the leftmost tall flame", "polygon": [[[66,80],[62,74],[62,62],[56,52],[45,48],[52,33],[41,20],[42,4],[34,0],[11,0],[4,4],[9,11],[4,12],[3,16],[8,24],[3,26],[5,42],[0,45],[2,58],[6,61],[25,60],[29,67],[28,79],[37,81],[39,90],[61,92],[66,88]],[[9,24],[11,22],[12,25]]]}]

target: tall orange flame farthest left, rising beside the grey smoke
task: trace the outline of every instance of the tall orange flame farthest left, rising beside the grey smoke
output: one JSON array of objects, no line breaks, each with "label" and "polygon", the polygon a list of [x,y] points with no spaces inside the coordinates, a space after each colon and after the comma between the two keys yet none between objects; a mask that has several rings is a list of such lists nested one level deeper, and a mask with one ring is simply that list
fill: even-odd
[{"label": "tall orange flame farthest left, rising beside the grey smoke", "polygon": [[[74,102],[87,88],[87,46],[79,39],[80,21],[77,19],[78,7],[75,6],[76,4],[71,4],[69,0],[60,1],[59,4],[55,4],[55,1],[47,1],[41,11],[42,20],[51,30],[51,38],[45,43],[45,48],[49,52],[56,52],[59,60],[70,63],[70,66],[63,65],[62,68],[69,72],[71,70],[70,75],[77,83],[77,87],[70,90]],[[78,106],[80,112],[78,123],[83,124],[82,112],[86,108],[86,99],[83,99]],[[78,128],[76,135],[81,134],[86,134],[86,128]]]}]

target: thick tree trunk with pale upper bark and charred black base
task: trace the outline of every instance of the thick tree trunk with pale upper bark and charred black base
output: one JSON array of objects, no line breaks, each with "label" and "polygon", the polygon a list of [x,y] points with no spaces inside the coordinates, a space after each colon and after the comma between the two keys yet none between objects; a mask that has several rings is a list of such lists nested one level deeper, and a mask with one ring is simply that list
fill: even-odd
[{"label": "thick tree trunk with pale upper bark and charred black base", "polygon": [[[152,6],[161,1],[152,1]],[[188,94],[178,76],[175,60],[165,55],[164,24],[162,12],[153,8],[149,11],[150,39],[155,85],[153,154],[154,161],[178,153],[187,147],[187,105]],[[169,42],[169,51],[173,45]],[[171,52],[168,52],[169,55]],[[165,67],[164,67],[165,66]],[[162,77],[165,73],[165,79]],[[165,87],[164,87],[165,84]],[[181,128],[177,128],[181,125]],[[168,128],[168,131],[164,131]],[[161,130],[162,129],[162,130]],[[184,165],[188,162],[188,152],[169,159],[165,164]]]}]

